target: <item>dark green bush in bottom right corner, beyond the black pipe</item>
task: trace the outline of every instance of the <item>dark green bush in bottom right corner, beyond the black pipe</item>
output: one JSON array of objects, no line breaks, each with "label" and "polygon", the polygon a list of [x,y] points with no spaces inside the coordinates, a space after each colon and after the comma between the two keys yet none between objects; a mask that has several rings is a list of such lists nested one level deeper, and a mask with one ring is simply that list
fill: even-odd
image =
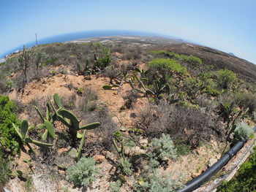
[{"label": "dark green bush in bottom right corner, beyond the black pipe", "polygon": [[256,147],[249,161],[242,164],[236,177],[229,182],[222,182],[218,191],[255,191],[256,189]]}]

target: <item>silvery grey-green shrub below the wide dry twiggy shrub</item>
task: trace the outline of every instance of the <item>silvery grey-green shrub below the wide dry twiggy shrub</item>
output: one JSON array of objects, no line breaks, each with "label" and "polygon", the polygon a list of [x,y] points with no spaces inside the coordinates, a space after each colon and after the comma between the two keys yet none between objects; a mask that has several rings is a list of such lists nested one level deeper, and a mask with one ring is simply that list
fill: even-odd
[{"label": "silvery grey-green shrub below the wide dry twiggy shrub", "polygon": [[155,168],[159,166],[167,158],[175,159],[177,157],[176,147],[167,134],[162,134],[159,139],[154,138],[152,148],[148,150],[149,166]]}]

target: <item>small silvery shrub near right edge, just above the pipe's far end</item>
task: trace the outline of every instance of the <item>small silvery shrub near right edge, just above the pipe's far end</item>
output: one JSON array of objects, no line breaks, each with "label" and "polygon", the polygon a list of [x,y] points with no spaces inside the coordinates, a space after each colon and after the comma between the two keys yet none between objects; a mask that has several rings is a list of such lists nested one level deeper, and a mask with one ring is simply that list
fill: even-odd
[{"label": "small silvery shrub near right edge, just above the pipe's far end", "polygon": [[239,123],[234,131],[234,137],[236,137],[236,139],[249,139],[252,134],[252,128],[244,122]]}]

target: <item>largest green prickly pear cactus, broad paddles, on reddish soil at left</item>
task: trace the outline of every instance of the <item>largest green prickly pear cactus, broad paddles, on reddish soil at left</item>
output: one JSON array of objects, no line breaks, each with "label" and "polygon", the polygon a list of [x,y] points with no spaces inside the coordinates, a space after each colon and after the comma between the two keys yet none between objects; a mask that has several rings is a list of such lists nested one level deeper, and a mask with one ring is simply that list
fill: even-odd
[{"label": "largest green prickly pear cactus, broad paddles, on reddish soil at left", "polygon": [[73,145],[75,145],[75,142],[78,139],[77,135],[79,130],[93,129],[93,128],[97,128],[100,125],[99,122],[95,122],[85,126],[79,126],[80,120],[78,120],[78,118],[69,110],[62,109],[61,99],[59,99],[58,93],[54,93],[53,95],[53,99],[56,106],[58,107],[58,110],[56,110],[56,108],[54,107],[53,102],[50,100],[50,96],[48,96],[48,99],[51,107],[53,107],[53,111],[55,112],[56,119],[61,121],[61,123],[63,123],[65,126],[69,128],[69,134],[72,137]]}]

